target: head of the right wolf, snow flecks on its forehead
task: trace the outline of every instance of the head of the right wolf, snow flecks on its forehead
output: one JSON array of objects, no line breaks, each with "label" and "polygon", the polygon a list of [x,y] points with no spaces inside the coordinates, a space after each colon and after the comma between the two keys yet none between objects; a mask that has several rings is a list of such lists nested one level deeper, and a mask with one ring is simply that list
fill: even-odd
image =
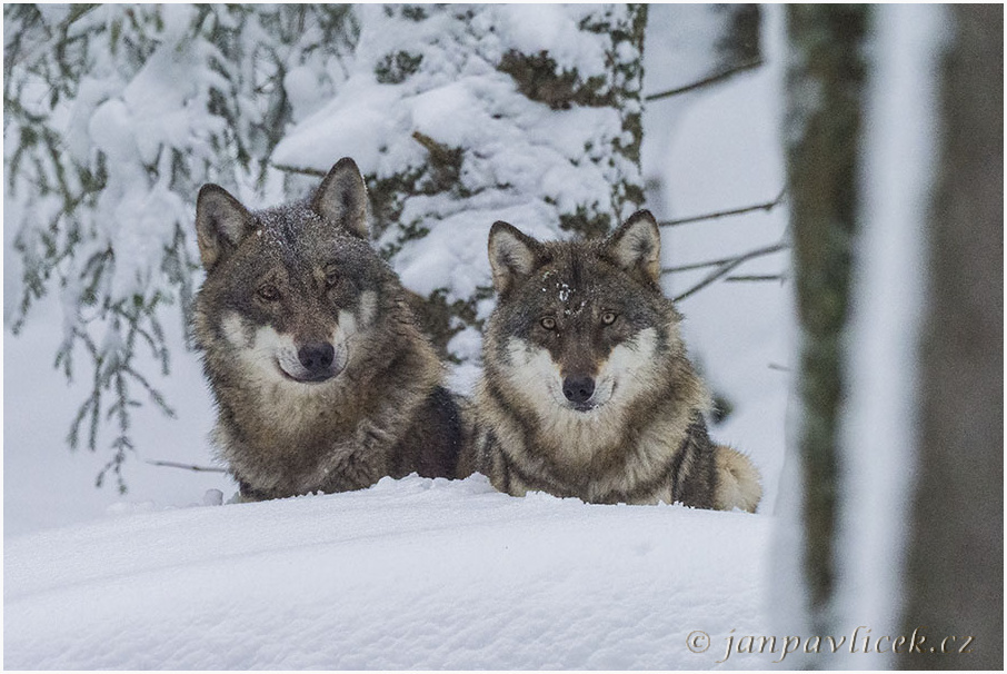
[{"label": "head of the right wolf, snow flecks on its forehead", "polygon": [[648,211],[605,240],[541,242],[496,222],[489,260],[498,303],[487,378],[540,417],[631,405],[682,355],[680,317],[658,285],[660,234]]}]

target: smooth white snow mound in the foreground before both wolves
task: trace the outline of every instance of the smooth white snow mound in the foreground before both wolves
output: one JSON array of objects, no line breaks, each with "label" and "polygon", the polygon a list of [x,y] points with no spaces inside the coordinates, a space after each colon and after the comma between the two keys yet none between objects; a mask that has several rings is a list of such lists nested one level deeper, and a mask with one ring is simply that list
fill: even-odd
[{"label": "smooth white snow mound in the foreground before both wolves", "polygon": [[481,476],[126,514],[7,541],[3,664],[706,668],[719,635],[764,623],[768,526]]}]

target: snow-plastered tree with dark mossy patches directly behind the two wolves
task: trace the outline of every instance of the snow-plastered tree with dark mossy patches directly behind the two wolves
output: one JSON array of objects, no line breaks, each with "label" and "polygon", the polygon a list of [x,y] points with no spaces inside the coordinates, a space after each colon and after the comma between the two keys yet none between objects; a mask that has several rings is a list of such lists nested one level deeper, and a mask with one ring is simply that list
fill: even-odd
[{"label": "snow-plastered tree with dark mossy patches directly behind the two wolves", "polygon": [[646,6],[367,6],[336,97],[273,152],[292,175],[350,156],[376,246],[438,346],[475,360],[495,220],[606,234],[642,202]]}]

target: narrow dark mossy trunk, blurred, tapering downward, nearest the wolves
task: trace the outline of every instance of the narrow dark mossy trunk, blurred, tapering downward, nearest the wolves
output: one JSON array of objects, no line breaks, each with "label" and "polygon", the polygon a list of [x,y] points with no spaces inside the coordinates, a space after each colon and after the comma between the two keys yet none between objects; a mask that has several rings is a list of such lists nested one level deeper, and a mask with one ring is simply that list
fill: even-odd
[{"label": "narrow dark mossy trunk, blurred, tapering downward, nearest the wolves", "polygon": [[856,231],[858,150],[870,8],[787,8],[787,170],[800,323],[799,454],[810,626],[827,634],[835,582],[841,354]]}]

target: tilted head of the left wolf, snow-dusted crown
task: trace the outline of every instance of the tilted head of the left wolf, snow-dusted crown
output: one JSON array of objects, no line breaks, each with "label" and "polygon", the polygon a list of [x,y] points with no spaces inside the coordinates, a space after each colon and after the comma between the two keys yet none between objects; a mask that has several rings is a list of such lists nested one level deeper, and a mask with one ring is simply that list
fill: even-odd
[{"label": "tilted head of the left wolf, snow-dusted crown", "polygon": [[367,190],[341,159],[315,195],[250,211],[217,185],[196,209],[207,278],[196,335],[211,380],[298,387],[338,378],[363,347],[393,274],[367,242]]}]

